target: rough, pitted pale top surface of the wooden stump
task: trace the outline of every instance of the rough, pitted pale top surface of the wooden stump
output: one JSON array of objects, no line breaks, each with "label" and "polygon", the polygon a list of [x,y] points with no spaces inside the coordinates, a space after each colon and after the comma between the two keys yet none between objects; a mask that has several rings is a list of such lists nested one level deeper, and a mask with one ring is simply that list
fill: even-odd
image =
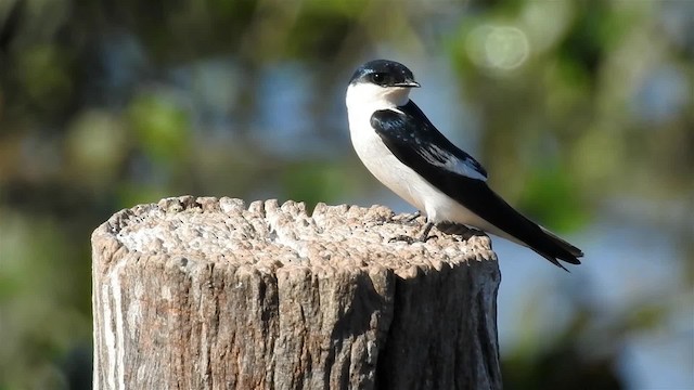
[{"label": "rough, pitted pale top surface of the wooden stump", "polygon": [[444,263],[496,261],[487,236],[462,242],[434,230],[426,243],[390,242],[416,235],[422,219],[407,223],[383,206],[181,196],[115,213],[94,231],[94,246],[141,255],[193,258],[275,270],[286,265],[342,269],[384,266],[399,276]]}]

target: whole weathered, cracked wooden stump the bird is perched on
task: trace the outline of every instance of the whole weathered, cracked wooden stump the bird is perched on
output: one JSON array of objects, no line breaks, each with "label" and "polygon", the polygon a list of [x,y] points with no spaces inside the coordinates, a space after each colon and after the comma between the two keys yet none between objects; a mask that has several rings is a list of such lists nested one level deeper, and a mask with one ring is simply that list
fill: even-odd
[{"label": "whole weathered, cracked wooden stump the bird is perched on", "polygon": [[[499,389],[489,238],[180,197],[92,235],[95,389]],[[434,231],[436,232],[436,231]]]}]

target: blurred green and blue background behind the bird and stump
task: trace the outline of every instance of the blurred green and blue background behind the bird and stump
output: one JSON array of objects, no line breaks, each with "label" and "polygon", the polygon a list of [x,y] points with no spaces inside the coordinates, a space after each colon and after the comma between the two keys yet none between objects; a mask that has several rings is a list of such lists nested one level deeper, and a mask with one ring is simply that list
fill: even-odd
[{"label": "blurred green and blue background behind the bird and stump", "polygon": [[91,387],[90,234],[193,194],[413,210],[352,152],[362,62],[511,204],[506,389],[694,389],[694,1],[0,0],[0,390]]}]

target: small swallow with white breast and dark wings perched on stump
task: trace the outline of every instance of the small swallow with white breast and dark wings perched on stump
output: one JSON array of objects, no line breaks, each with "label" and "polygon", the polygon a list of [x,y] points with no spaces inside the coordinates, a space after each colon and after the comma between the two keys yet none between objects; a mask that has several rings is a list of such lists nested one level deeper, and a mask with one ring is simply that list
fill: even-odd
[{"label": "small swallow with white breast and dark wings perched on stump", "polygon": [[420,87],[407,66],[374,60],[357,68],[345,99],[351,143],[363,165],[426,214],[419,238],[404,240],[425,242],[434,225],[462,225],[528,247],[565,271],[560,260],[580,264],[579,248],[509,205],[487,184],[481,164],[436,129],[410,100]]}]

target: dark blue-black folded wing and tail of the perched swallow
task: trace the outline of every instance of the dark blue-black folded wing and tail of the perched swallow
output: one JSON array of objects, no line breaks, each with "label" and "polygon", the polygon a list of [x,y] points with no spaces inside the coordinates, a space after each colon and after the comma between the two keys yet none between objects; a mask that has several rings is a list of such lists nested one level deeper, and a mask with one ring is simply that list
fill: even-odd
[{"label": "dark blue-black folded wing and tail of the perched swallow", "polygon": [[479,218],[558,266],[557,259],[580,263],[580,249],[530,221],[489,188],[481,165],[448,141],[414,102],[375,112],[371,126],[402,164]]}]

